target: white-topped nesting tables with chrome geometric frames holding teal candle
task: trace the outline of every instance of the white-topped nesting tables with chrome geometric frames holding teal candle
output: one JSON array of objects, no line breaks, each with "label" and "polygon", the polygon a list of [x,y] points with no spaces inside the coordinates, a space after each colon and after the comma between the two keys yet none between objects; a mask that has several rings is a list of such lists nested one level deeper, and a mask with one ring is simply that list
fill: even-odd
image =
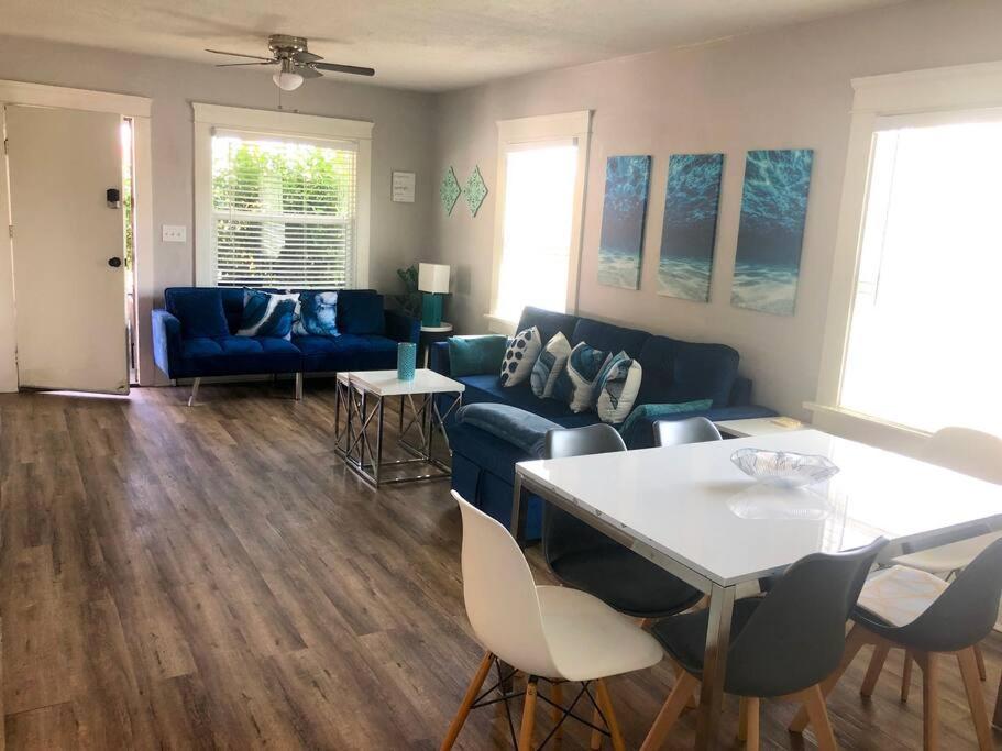
[{"label": "white-topped nesting tables with chrome geometric frames holding teal candle", "polygon": [[[334,453],[345,465],[371,485],[409,483],[449,477],[451,467],[434,455],[436,434],[445,449],[444,421],[463,400],[465,386],[440,373],[419,368],[414,380],[400,380],[396,371],[351,371],[338,374],[334,393]],[[454,395],[444,411],[436,397]],[[399,397],[399,435],[397,444],[409,456],[385,461],[384,428],[387,399]],[[345,423],[341,426],[341,410]],[[409,416],[407,415],[409,408]],[[389,467],[420,465],[418,472],[387,477]]]}]

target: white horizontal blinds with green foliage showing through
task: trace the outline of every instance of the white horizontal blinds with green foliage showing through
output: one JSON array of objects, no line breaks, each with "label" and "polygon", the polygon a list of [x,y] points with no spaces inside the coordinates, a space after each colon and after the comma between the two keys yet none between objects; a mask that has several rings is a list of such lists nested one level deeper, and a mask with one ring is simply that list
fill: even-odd
[{"label": "white horizontal blinds with green foliage showing through", "polygon": [[212,225],[219,286],[348,287],[354,144],[217,131]]}]

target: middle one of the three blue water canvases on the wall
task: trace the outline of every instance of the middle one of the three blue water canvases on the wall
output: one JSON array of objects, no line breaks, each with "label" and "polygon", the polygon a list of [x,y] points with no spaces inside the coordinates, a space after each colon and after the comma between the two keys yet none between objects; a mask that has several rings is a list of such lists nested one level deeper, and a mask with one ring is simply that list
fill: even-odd
[{"label": "middle one of the three blue water canvases on the wall", "polygon": [[658,294],[709,301],[723,154],[672,154],[664,191]]}]

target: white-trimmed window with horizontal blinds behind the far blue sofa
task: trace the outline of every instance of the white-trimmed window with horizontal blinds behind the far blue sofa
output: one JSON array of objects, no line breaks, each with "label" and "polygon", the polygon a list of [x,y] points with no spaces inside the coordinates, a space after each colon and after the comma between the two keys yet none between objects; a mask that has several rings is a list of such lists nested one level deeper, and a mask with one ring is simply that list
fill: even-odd
[{"label": "white-trimmed window with horizontal blinds behind the far blue sofa", "polygon": [[196,283],[368,283],[372,123],[195,104]]}]

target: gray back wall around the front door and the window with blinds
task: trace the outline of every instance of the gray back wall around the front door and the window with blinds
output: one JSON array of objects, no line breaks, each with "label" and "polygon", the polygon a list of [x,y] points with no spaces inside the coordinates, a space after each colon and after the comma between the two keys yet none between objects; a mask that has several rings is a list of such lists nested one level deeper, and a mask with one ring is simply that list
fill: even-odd
[{"label": "gray back wall around the front door and the window with blinds", "polygon": [[[142,299],[140,327],[150,327],[148,310],[164,287],[194,284],[192,101],[274,109],[277,89],[266,75],[239,68],[214,68],[166,58],[122,55],[110,51],[0,36],[0,79],[80,89],[114,91],[153,100],[154,299]],[[284,95],[286,109],[310,114],[371,120],[372,228],[371,286],[397,292],[396,269],[427,259],[433,177],[433,99],[426,93],[359,84],[308,81]],[[417,173],[415,203],[389,199],[390,173]],[[4,209],[5,211],[5,209]],[[162,224],[188,227],[186,244],[163,243]],[[9,274],[9,269],[5,269]],[[2,283],[3,274],[0,274]],[[10,286],[0,284],[9,295]],[[4,291],[0,291],[3,295]],[[0,299],[0,310],[7,308]],[[2,334],[9,321],[0,321]],[[148,363],[148,361],[147,361]],[[147,368],[152,372],[152,368]],[[10,366],[0,363],[0,390],[13,390]]]}]

